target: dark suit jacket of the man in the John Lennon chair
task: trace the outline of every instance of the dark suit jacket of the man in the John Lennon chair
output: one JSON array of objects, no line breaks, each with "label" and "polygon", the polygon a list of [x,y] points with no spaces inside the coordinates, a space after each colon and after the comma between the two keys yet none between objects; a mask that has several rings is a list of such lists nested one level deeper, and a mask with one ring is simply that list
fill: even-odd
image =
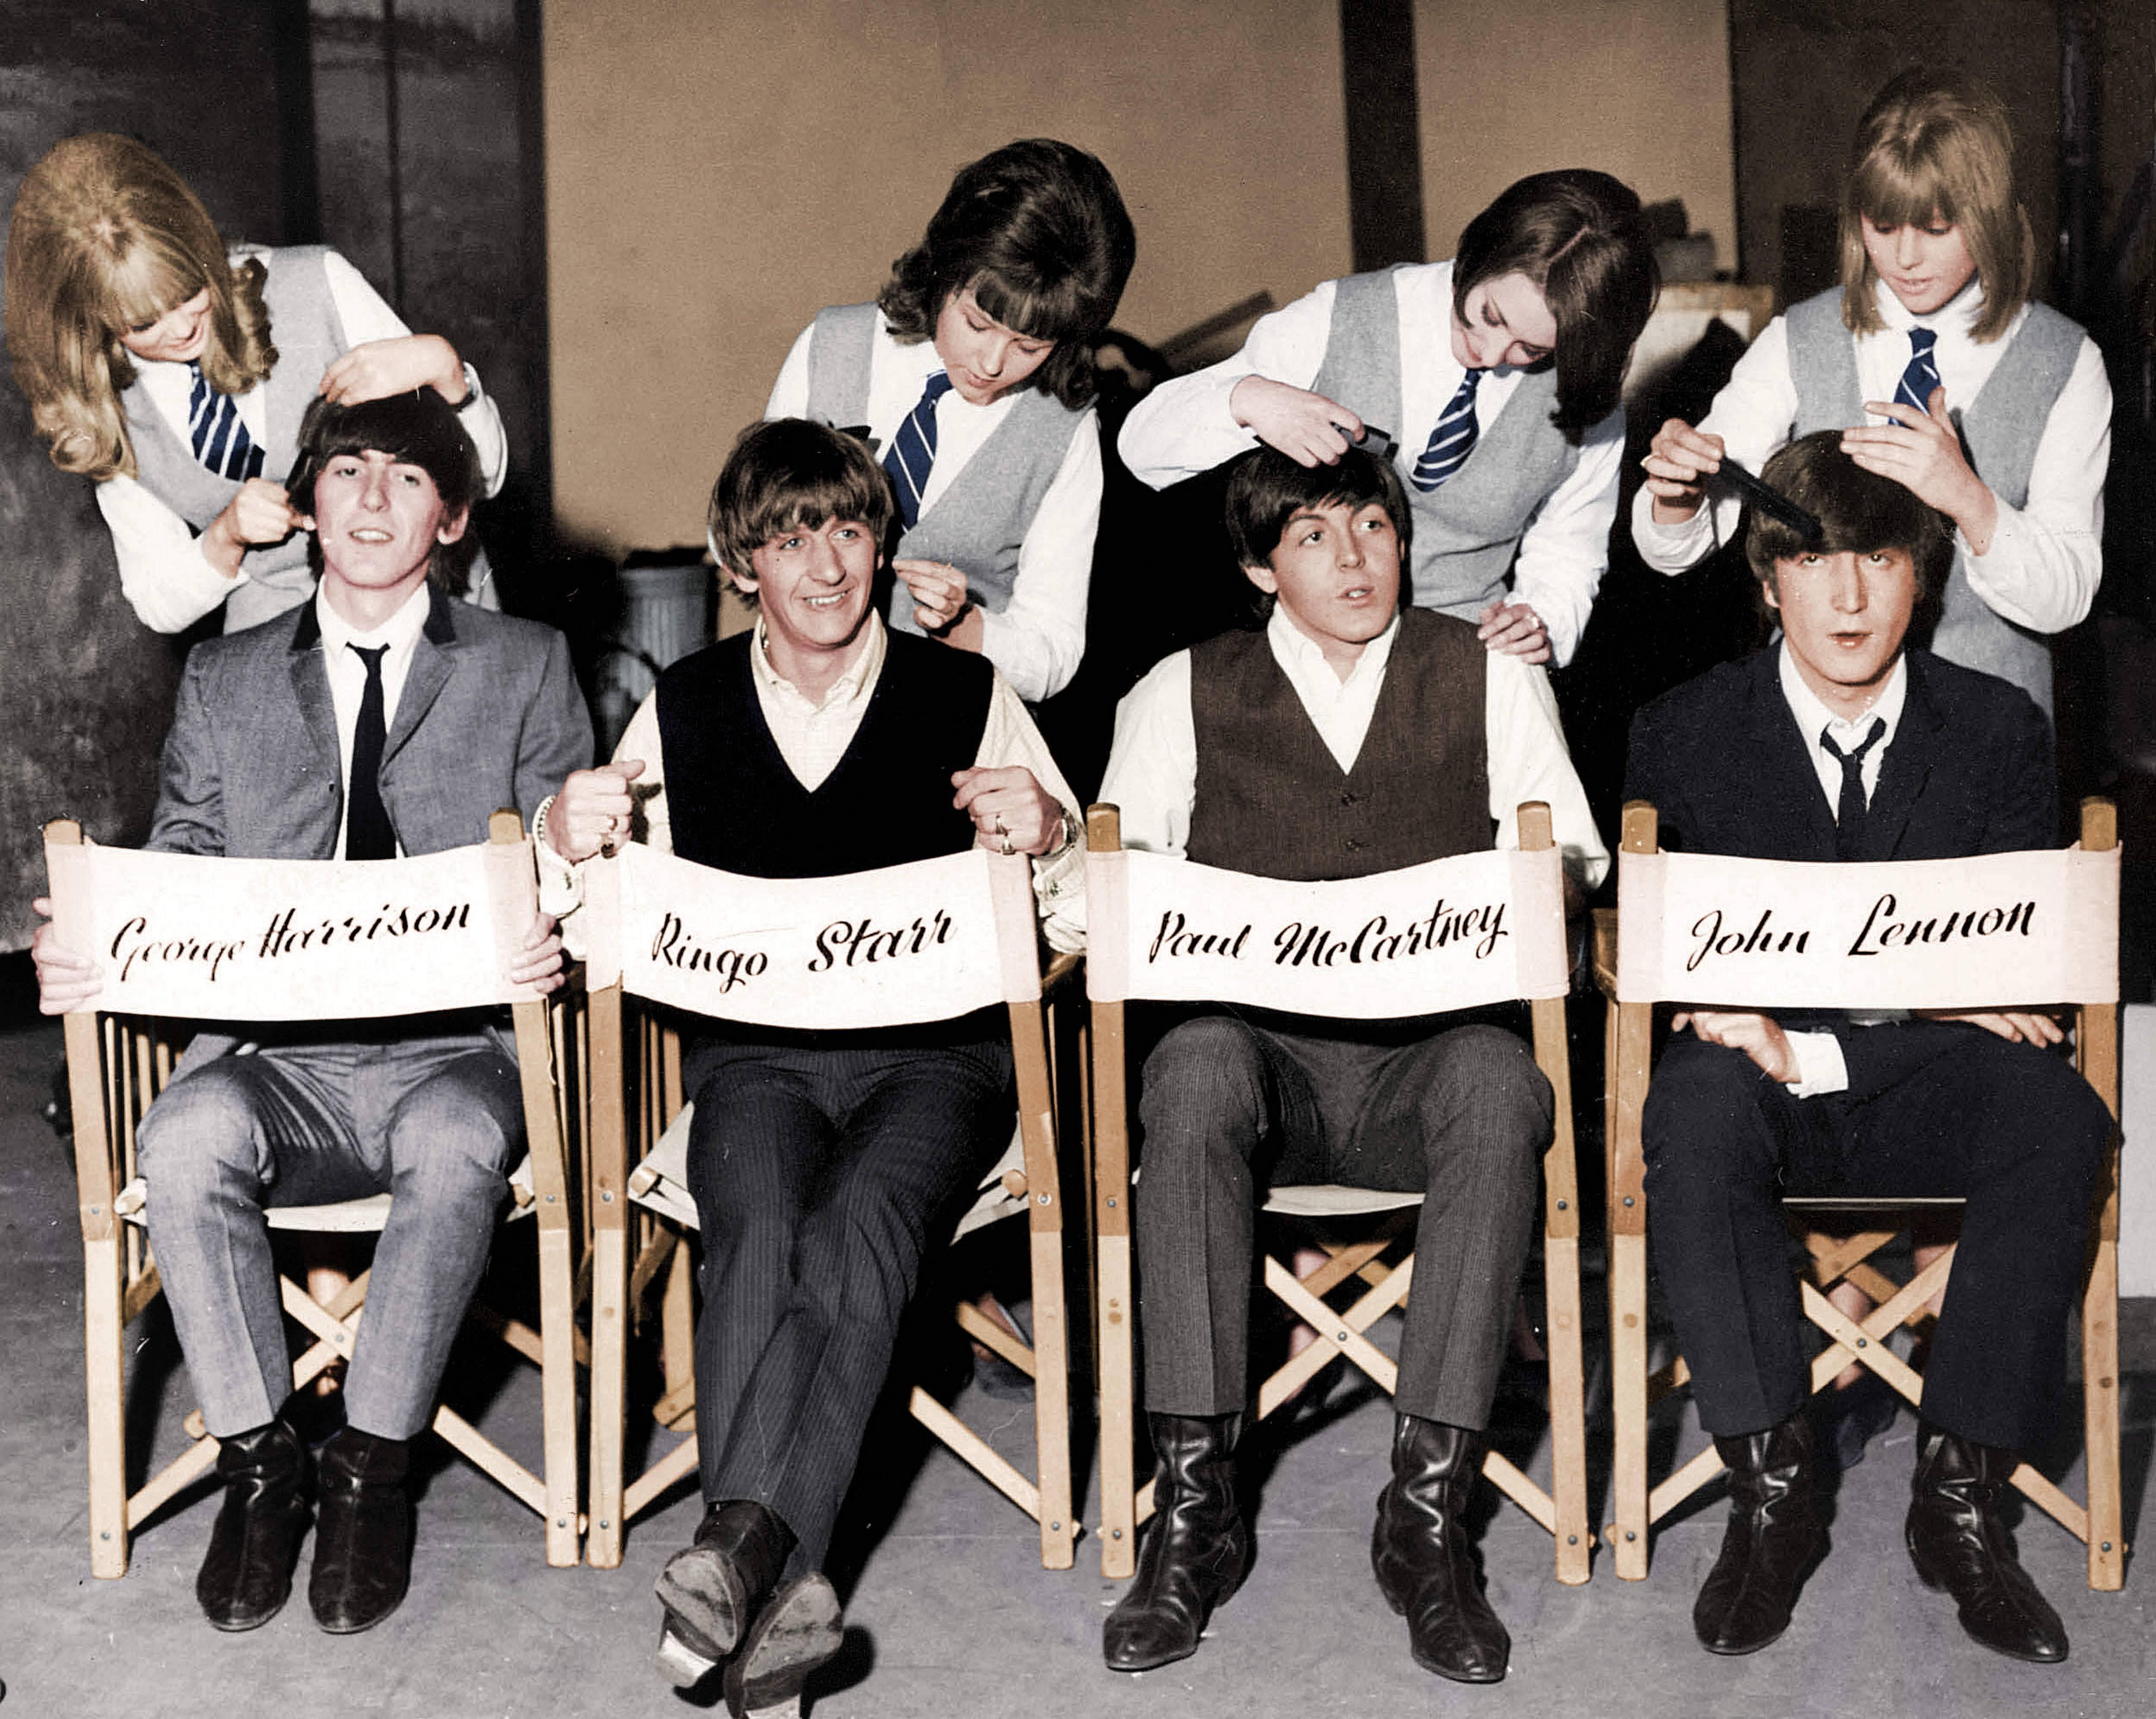
[{"label": "dark suit jacket of the man in the John Lennon chair", "polygon": [[[1781,647],[1725,662],[1632,718],[1626,800],[1649,800],[1660,845],[1740,858],[1833,861],[1835,811],[1781,695]],[[2027,692],[1930,651],[1908,654],[1908,703],[1865,813],[1856,858],[1964,858],[2059,845],[2050,727]],[[1833,1031],[1850,1091],[1893,1078],[1895,1035],[1789,1012]]]}]

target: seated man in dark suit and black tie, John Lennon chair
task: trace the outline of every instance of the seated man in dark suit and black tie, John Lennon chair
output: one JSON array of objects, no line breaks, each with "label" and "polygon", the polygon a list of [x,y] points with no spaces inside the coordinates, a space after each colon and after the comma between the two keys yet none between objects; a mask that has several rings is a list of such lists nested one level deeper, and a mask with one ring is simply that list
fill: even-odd
[{"label": "seated man in dark suit and black tie, John Lennon chair", "polygon": [[[1839,431],[1766,481],[1824,524],[1753,515],[1746,554],[1783,638],[1647,705],[1626,798],[1662,845],[1781,861],[2055,848],[2044,716],[2007,682],[1904,649],[1953,563],[1951,526],[1861,470]],[[1654,1257],[1699,1419],[1729,1464],[1729,1531],[1692,1624],[1718,1654],[1789,1622],[1824,1549],[1809,1354],[1781,1195],[1960,1195],[1960,1251],[1925,1367],[1908,1549],[1962,1626],[2016,1659],[2065,1628],[2014,1559],[1996,1497],[2053,1413],[2081,1281],[2102,1100],[2033,1012],[1891,1020],[1692,1009],[1647,1091]],[[1686,1035],[1684,1029],[1690,1029]]]}]

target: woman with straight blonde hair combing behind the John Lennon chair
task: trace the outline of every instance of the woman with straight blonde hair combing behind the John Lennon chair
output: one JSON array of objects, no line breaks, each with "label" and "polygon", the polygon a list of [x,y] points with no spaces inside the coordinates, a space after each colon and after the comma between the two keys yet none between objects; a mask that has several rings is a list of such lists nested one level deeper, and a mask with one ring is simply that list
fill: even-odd
[{"label": "woman with straight blonde hair combing behind the John Lennon chair", "polygon": [[1904,71],[1865,110],[1841,194],[1841,285],[1768,324],[1692,429],[1645,457],[1632,539],[1677,574],[1736,533],[1701,479],[1841,429],[1865,470],[1953,520],[1932,649],[2050,714],[2050,634],[2104,576],[2111,382],[2096,343],[2031,304],[2035,237],[2005,104],[1958,71]]}]

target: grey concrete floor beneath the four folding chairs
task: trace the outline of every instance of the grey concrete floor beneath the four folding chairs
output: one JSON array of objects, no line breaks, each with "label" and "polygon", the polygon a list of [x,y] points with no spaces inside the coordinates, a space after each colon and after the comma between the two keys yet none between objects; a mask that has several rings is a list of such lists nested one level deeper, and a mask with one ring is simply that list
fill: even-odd
[{"label": "grey concrete floor beneath the four folding chairs", "polygon": [[[194,1568],[213,1516],[198,1488],[136,1540],[123,1581],[88,1574],[82,1497],[82,1255],[71,1171],[37,1106],[54,1065],[50,1027],[0,1033],[0,1713],[252,1715],[671,1715],[692,1708],[651,1669],[651,1579],[686,1542],[696,1503],[677,1499],[630,1531],[619,1570],[550,1570],[537,1518],[457,1462],[431,1467],[420,1497],[412,1596],[360,1637],[315,1631],[304,1598],[252,1635],[216,1635],[194,1609]],[[1600,1281],[1589,1298],[1600,1296]],[[2156,1529],[2150,1449],[2156,1428],[2156,1303],[2126,1309],[2128,1523]],[[157,1454],[179,1441],[185,1374],[168,1329],[142,1333],[132,1361],[138,1404],[155,1402]],[[481,1380],[483,1383],[483,1380]],[[453,1380],[470,1398],[472,1378]],[[1520,1380],[1526,1389],[1529,1378]],[[485,1391],[479,1393],[485,1400]],[[502,1385],[483,1424],[505,1441],[535,1426],[535,1387]],[[1022,1404],[962,1404],[996,1441],[1031,1445]],[[1531,1404],[1509,1441],[1529,1445]],[[2061,1667],[1996,1659],[1971,1644],[1951,1603],[1927,1594],[1899,1549],[1912,1428],[1904,1417],[1841,1486],[1833,1553],[1796,1624],[1742,1661],[1703,1654],[1692,1594],[1720,1538],[1710,1503],[1667,1525],[1654,1577],[1621,1583],[1600,1559],[1587,1587],[1550,1579],[1550,1549],[1518,1510],[1483,1536],[1490,1596],[1514,1635],[1511,1676],[1462,1689],[1419,1672],[1406,1631],[1369,1574],[1371,1501],[1384,1482],[1391,1417],[1341,1391],[1261,1480],[1259,1564],[1184,1665],[1138,1678],[1102,1669],[1100,1620],[1119,1585],[1100,1546],[1078,1568],[1044,1572],[1031,1523],[953,1458],[925,1458],[903,1430],[877,1434],[849,1512],[845,1654],[811,1687],[821,1719],[938,1715],[1908,1715],[1981,1719],[2042,1706],[2059,1719],[2126,1719],[2156,1708],[2156,1611],[2147,1570],[2124,1594],[2083,1585],[2081,1546],[2035,1512],[2022,1555],[2072,1633]],[[1669,1432],[1688,1452],[1699,1434]],[[526,1443],[526,1454],[528,1445]],[[1602,1495],[1606,1419],[1591,1428]],[[2078,1490],[2070,1452],[2048,1467]],[[1531,1460],[1546,1477],[1548,1458]],[[1089,1501],[1087,1518],[1097,1518]],[[304,1579],[304,1574],[302,1574]]]}]

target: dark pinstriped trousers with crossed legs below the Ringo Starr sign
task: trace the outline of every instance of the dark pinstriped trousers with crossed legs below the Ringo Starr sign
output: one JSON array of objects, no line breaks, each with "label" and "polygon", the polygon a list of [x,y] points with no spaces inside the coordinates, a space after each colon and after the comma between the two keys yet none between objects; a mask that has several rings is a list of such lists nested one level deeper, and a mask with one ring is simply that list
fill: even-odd
[{"label": "dark pinstriped trousers with crossed legs below the Ringo Starr sign", "polygon": [[1011,1137],[1011,1048],[707,1042],[686,1074],[703,1495],[770,1508],[800,1574],[824,1564],[923,1251]]}]

